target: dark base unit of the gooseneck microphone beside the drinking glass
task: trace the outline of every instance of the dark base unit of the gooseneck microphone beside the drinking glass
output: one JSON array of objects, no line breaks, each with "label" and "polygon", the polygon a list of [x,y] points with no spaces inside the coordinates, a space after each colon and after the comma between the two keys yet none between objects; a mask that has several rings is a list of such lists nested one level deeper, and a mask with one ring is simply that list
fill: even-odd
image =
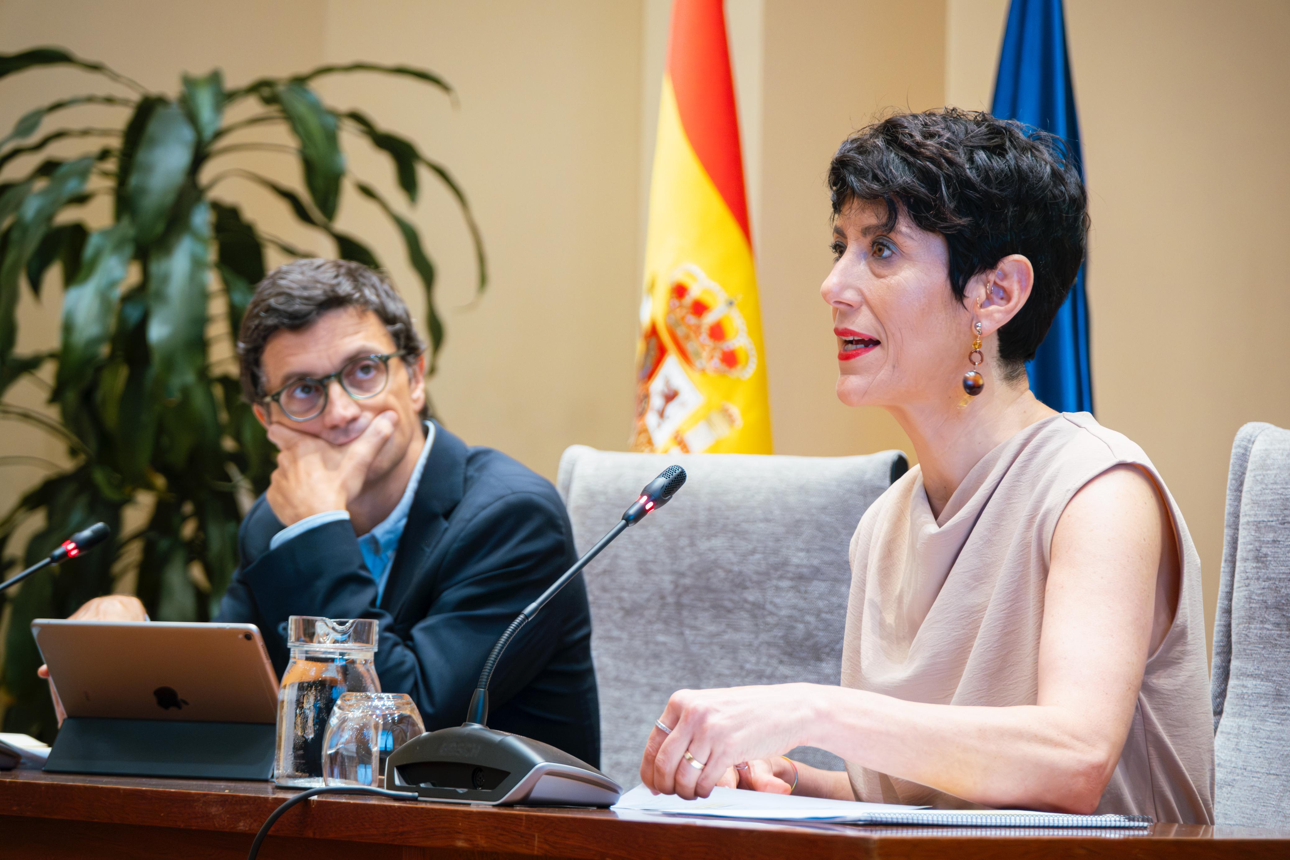
[{"label": "dark base unit of the gooseneck microphone beside the drinking glass", "polygon": [[386,759],[386,789],[485,806],[613,806],[622,787],[550,744],[466,723],[426,732]]}]

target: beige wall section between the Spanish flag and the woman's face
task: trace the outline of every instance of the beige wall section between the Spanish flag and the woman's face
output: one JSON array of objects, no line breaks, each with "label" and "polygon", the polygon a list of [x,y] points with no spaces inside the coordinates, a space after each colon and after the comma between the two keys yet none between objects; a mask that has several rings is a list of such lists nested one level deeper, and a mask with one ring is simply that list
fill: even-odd
[{"label": "beige wall section between the Spanish flag and the woman's face", "polygon": [[875,113],[944,101],[942,0],[768,0],[759,242],[775,450],[913,449],[885,411],[833,395],[837,344],[819,295],[832,264],[828,160]]}]

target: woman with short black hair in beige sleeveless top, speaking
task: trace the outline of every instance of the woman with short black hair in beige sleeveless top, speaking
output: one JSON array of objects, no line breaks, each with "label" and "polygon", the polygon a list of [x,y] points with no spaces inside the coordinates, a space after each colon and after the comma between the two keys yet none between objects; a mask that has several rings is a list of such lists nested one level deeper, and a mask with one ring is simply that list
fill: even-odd
[{"label": "woman with short black hair in beige sleeveless top, speaking", "polygon": [[[1187,525],[1140,447],[1027,386],[1084,259],[1078,166],[946,108],[854,134],[828,184],[837,396],[891,413],[918,465],[851,539],[841,686],[679,691],[641,779],[1210,823]],[[783,757],[799,745],[846,771]]]}]

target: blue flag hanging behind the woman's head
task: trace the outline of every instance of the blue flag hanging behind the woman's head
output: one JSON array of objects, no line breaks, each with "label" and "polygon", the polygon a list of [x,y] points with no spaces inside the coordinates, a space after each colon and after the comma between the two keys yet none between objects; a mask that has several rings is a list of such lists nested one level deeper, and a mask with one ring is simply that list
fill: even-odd
[{"label": "blue flag hanging behind the woman's head", "polygon": [[[1013,0],[991,113],[1064,139],[1068,156],[1076,160],[1084,175],[1062,0]],[[1081,266],[1035,360],[1026,365],[1035,396],[1063,413],[1093,411],[1084,269]]]}]

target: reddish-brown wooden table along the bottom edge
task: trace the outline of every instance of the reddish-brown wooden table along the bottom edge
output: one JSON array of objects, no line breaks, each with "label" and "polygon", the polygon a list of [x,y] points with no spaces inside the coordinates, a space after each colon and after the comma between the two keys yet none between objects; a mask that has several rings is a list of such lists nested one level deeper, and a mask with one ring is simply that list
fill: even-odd
[{"label": "reddish-brown wooden table along the bottom edge", "polygon": [[[292,794],[267,783],[0,772],[0,856],[245,857],[255,830]],[[261,857],[1290,857],[1290,830],[1253,828],[773,825],[364,797],[306,801],[272,833]]]}]

